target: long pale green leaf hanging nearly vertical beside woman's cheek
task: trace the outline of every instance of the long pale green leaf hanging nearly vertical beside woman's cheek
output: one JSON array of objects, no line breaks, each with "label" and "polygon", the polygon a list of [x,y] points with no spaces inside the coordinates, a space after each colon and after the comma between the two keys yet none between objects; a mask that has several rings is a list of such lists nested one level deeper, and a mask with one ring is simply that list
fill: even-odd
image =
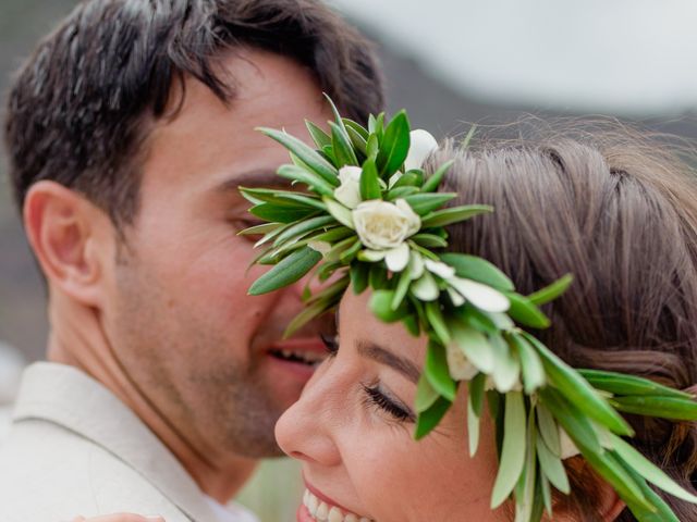
[{"label": "long pale green leaf hanging nearly vertical beside woman's cheek", "polygon": [[525,464],[526,414],[523,394],[505,395],[503,448],[499,473],[491,493],[491,509],[496,509],[511,495]]}]

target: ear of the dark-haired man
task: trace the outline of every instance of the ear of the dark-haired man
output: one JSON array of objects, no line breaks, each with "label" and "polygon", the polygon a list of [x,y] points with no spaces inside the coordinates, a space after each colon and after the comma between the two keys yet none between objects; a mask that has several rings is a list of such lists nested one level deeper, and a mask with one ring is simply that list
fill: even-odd
[{"label": "ear of the dark-haired man", "polygon": [[[80,194],[58,183],[32,185],[24,201],[24,227],[49,287],[87,306],[100,301],[106,254],[106,214]],[[106,222],[105,222],[106,220]]]}]

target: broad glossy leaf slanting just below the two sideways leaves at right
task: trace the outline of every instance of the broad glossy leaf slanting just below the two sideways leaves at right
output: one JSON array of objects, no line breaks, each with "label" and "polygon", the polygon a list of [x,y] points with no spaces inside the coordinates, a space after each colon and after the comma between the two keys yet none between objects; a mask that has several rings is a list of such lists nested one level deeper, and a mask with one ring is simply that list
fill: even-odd
[{"label": "broad glossy leaf slanting just below the two sideways leaves at right", "polygon": [[[542,359],[550,382],[590,419],[621,435],[632,436],[632,427],[598,391],[573,368],[557,357],[549,348],[528,333],[522,335],[533,345]],[[567,431],[568,432],[568,431]]]}]

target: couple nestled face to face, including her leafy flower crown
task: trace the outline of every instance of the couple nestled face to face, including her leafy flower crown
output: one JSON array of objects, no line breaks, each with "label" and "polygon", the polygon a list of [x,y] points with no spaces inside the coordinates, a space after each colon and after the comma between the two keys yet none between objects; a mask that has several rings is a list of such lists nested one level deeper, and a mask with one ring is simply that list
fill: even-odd
[{"label": "couple nestled face to face, including her leafy flower crown", "polygon": [[51,328],[0,520],[254,521],[282,453],[301,522],[697,520],[687,167],[437,148],[381,88],[309,0],[93,0],[39,44],[7,144]]}]

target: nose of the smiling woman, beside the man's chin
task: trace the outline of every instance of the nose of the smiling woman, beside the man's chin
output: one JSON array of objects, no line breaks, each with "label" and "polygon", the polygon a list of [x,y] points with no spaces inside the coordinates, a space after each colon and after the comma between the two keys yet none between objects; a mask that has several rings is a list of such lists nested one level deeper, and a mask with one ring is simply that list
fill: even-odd
[{"label": "nose of the smiling woman, beside the man's chin", "polygon": [[315,375],[305,386],[297,402],[291,406],[276,424],[276,438],[281,449],[294,459],[307,463],[333,467],[341,463],[334,433],[339,427],[332,412],[333,390],[325,388],[325,372]]}]

